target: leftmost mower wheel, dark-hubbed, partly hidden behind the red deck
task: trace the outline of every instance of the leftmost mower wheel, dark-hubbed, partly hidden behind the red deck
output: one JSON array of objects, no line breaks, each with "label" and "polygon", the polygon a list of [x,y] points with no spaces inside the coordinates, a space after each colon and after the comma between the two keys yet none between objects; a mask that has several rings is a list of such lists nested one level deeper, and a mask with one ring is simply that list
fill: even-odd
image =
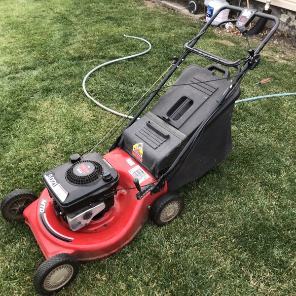
[{"label": "leftmost mower wheel, dark-hubbed, partly hidden behind the red deck", "polygon": [[24,218],[24,210],[37,199],[37,196],[26,189],[17,189],[8,193],[2,200],[0,210],[7,221],[18,221]]}]

